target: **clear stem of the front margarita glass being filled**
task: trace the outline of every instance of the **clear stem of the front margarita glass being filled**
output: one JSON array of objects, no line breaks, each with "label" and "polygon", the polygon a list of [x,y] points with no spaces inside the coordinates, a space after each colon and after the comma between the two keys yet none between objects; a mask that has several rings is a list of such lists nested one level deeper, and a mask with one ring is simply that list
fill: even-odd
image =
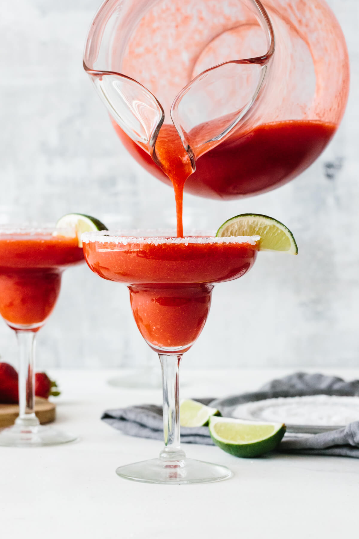
[{"label": "clear stem of the front margarita glass being filled", "polygon": [[[165,446],[160,459],[182,466],[185,452],[180,447],[179,367],[182,354],[158,354],[162,368],[163,433]],[[177,464],[174,464],[176,462]]]}]

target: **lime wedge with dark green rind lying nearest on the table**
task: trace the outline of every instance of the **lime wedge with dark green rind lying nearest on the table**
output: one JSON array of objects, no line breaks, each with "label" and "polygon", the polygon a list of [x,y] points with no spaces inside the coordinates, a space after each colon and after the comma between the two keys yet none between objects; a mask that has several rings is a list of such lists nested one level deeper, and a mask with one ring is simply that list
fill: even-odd
[{"label": "lime wedge with dark green rind lying nearest on the table", "polygon": [[285,433],[283,423],[251,423],[243,419],[211,417],[209,433],[214,443],[235,457],[258,457],[272,451]]}]

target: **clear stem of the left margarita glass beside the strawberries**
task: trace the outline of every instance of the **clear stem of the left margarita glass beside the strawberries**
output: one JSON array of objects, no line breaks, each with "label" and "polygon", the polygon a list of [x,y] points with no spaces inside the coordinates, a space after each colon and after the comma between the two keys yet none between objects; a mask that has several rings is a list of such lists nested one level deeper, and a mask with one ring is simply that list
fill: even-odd
[{"label": "clear stem of the left margarita glass beside the strawberries", "polygon": [[19,416],[15,423],[39,425],[35,415],[35,336],[33,331],[16,330],[19,345]]}]

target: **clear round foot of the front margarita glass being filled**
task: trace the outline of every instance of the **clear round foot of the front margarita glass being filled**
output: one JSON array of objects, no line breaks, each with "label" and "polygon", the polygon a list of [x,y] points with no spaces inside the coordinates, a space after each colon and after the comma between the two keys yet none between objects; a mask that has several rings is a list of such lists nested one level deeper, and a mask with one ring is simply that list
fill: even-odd
[{"label": "clear round foot of the front margarita glass being filled", "polygon": [[175,463],[161,458],[143,460],[120,466],[116,473],[124,479],[159,485],[214,483],[229,479],[233,475],[226,466],[187,458]]}]

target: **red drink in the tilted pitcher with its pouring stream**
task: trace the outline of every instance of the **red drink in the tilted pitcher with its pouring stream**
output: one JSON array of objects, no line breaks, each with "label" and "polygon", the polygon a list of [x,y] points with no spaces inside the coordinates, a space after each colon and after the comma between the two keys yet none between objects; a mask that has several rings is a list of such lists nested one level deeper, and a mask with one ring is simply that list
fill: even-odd
[{"label": "red drink in the tilted pitcher with its pouring stream", "polygon": [[[153,176],[174,186],[178,236],[182,236],[182,192],[223,200],[270,191],[295,178],[316,160],[336,125],[319,120],[288,120],[237,130],[191,164],[173,125],[163,125],[151,157],[112,121],[126,149]],[[169,179],[170,178],[170,179]]]}]

